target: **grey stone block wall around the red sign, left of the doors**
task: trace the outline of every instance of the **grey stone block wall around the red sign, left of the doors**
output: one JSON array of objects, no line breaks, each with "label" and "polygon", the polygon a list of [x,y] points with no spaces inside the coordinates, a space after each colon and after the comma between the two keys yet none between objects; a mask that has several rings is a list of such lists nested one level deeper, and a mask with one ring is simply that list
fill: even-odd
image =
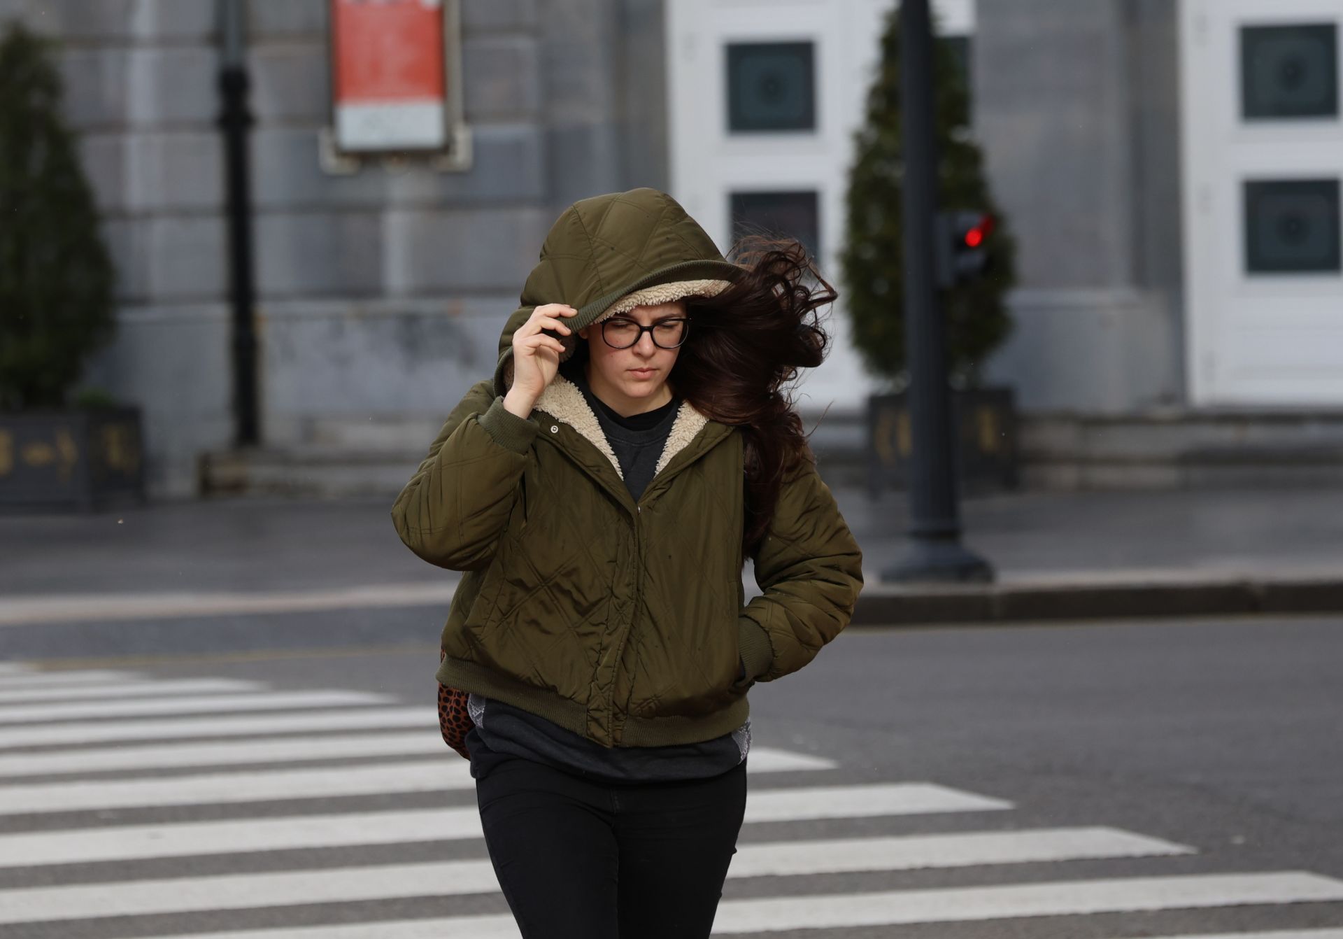
[{"label": "grey stone block wall around the red sign, left of the doors", "polygon": [[[232,441],[214,5],[0,0],[0,20],[62,43],[67,116],[120,275],[117,340],[86,382],[144,408],[158,497],[195,494],[199,454]],[[265,443],[442,419],[493,371],[560,211],[665,188],[661,19],[655,0],[467,0],[471,169],[332,176],[317,144],[326,3],[250,1]]]}]

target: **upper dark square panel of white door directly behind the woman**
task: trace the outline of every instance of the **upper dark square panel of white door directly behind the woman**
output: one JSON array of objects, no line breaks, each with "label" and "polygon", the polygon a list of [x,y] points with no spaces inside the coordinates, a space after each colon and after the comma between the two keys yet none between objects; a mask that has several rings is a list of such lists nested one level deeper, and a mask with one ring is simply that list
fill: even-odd
[{"label": "upper dark square panel of white door directly behind the woman", "polygon": [[728,130],[815,130],[813,43],[729,43]]}]

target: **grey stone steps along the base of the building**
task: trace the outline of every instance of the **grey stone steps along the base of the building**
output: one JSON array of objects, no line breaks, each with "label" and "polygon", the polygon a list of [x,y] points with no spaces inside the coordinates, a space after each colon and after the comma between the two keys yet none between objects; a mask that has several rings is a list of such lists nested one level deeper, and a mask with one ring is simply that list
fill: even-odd
[{"label": "grey stone steps along the base of the building", "polygon": [[[861,411],[804,414],[831,486],[866,486]],[[200,459],[203,494],[395,496],[439,419],[318,419],[306,442],[224,450]],[[1026,489],[1343,486],[1343,412],[1163,411],[1034,414],[1019,419]]]}]

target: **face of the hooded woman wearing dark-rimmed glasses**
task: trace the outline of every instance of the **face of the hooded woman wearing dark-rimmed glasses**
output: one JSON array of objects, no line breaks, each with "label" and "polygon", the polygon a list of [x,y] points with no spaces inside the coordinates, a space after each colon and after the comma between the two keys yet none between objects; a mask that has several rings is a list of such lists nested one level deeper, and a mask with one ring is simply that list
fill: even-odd
[{"label": "face of the hooded woman wearing dark-rimmed glasses", "polygon": [[[651,326],[657,322],[685,317],[685,302],[674,301],[658,304],[657,306],[635,306],[629,313],[616,313],[607,322],[607,334],[612,341],[619,341],[616,333],[619,324],[637,322],[641,326]],[[629,329],[629,325],[626,325]],[[666,324],[663,329],[670,333],[676,326]],[[654,344],[653,333],[643,332],[639,341],[627,349],[614,349],[602,339],[602,324],[594,322],[579,330],[579,336],[588,344],[588,384],[592,394],[604,400],[619,414],[641,414],[666,404],[672,400],[672,390],[667,388],[667,376],[676,364],[681,349],[663,349]],[[672,336],[659,341],[667,343]]]}]

